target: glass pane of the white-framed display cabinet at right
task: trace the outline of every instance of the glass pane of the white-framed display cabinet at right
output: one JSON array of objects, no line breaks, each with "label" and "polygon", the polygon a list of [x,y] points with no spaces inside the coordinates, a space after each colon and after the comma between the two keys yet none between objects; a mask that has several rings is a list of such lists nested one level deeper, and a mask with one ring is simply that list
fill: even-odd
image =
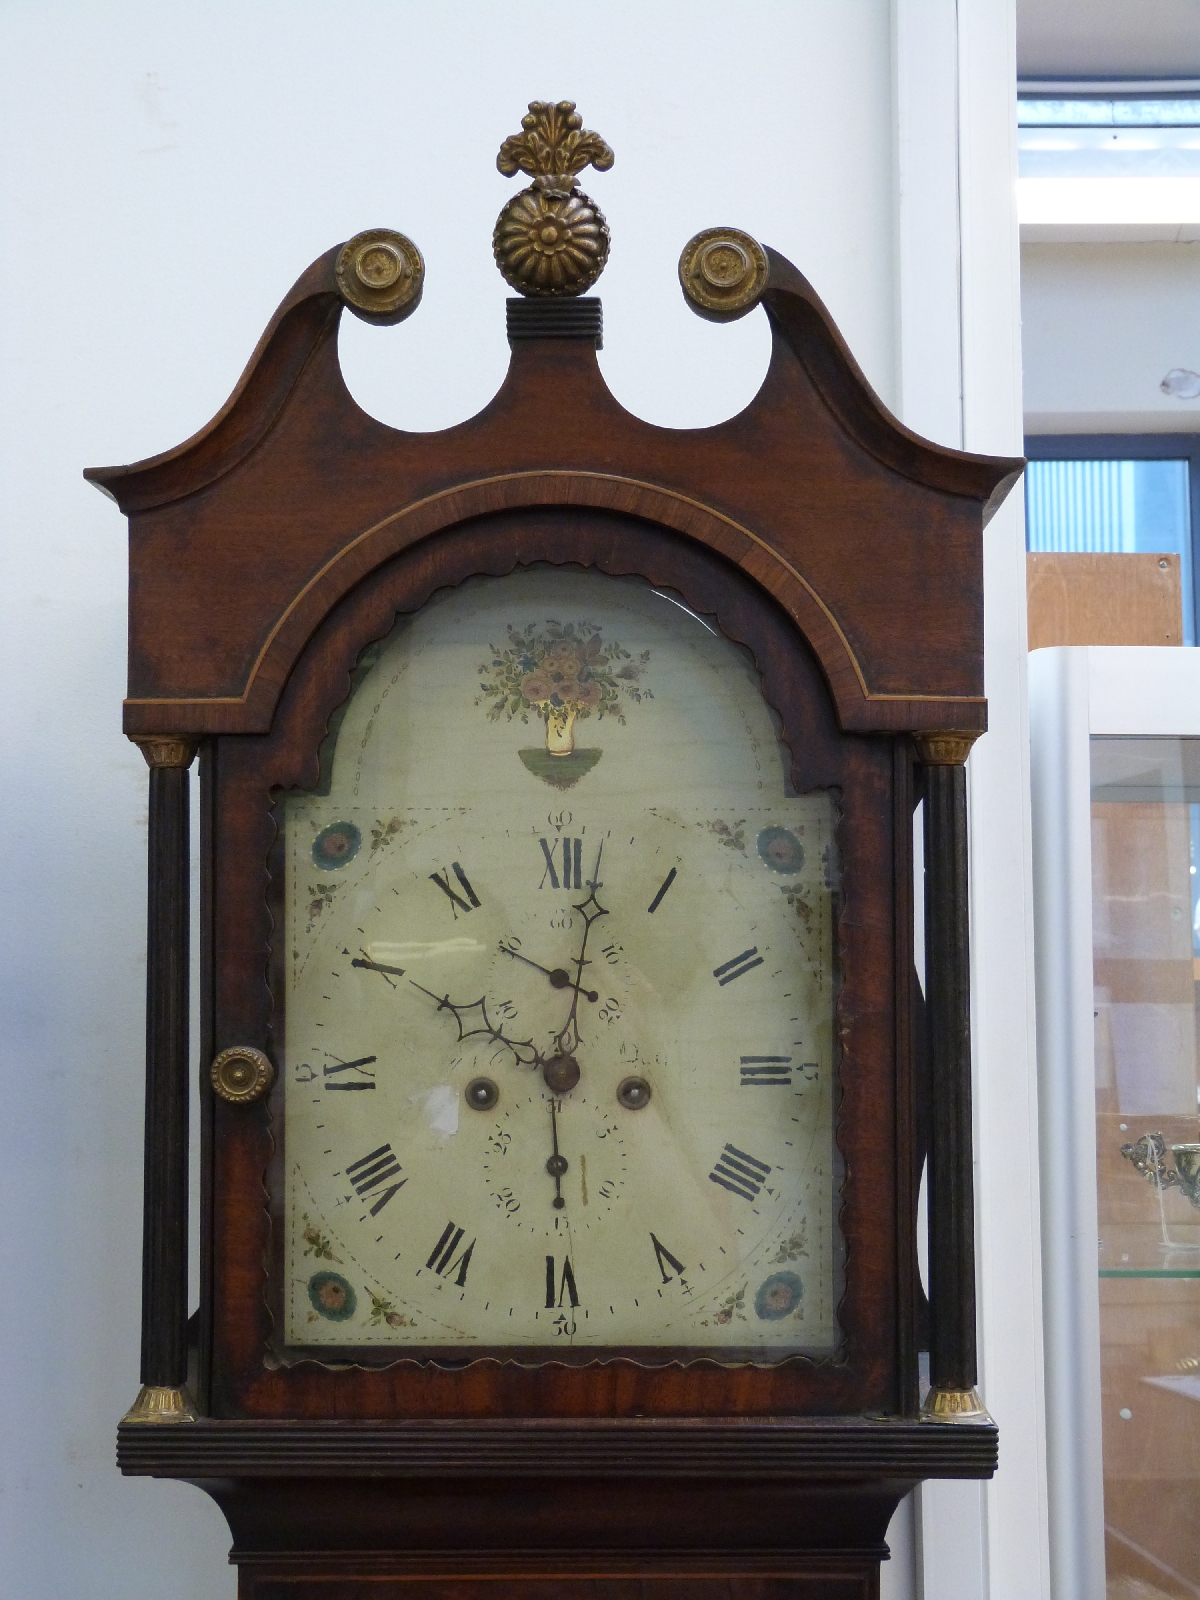
[{"label": "glass pane of the white-framed display cabinet at right", "polygon": [[1200,1594],[1200,739],[1093,739],[1091,802],[1107,1597],[1174,1600]]}]

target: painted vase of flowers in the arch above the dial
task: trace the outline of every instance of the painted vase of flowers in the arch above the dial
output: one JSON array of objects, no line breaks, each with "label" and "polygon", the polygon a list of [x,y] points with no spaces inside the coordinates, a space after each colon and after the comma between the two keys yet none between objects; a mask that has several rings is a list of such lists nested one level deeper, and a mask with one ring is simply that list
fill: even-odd
[{"label": "painted vase of flowers in the arch above the dial", "polygon": [[509,624],[506,643],[493,645],[478,669],[475,704],[488,707],[490,722],[541,720],[546,742],[517,754],[534,778],[571,789],[603,755],[576,747],[576,725],[605,717],[624,723],[629,706],[653,699],[643,683],[648,661],[648,650],[634,656],[594,622]]}]

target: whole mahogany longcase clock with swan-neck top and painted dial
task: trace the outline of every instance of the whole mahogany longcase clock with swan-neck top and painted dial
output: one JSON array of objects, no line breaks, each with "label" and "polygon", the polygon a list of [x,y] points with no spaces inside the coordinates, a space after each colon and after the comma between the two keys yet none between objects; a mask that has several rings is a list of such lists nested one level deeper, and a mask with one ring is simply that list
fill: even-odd
[{"label": "whole mahogany longcase clock with swan-neck top and painted dial", "polygon": [[901,1496],[995,1464],[963,762],[981,530],[1021,462],[906,430],[728,227],[680,283],[763,307],[760,394],[632,418],[595,360],[589,163],[570,101],[501,149],[531,184],[477,418],[405,434],[347,394],[342,310],[421,298],[376,229],[307,269],[206,429],[88,472],[130,518],[150,766],[118,1458],[218,1501],[243,1600],[870,1597]]}]

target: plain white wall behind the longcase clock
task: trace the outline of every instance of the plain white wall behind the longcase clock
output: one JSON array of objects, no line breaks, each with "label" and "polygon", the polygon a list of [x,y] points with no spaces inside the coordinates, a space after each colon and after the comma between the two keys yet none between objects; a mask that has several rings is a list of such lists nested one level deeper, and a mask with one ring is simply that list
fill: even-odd
[{"label": "plain white wall behind the longcase clock", "polygon": [[[138,1387],[146,774],[120,736],[125,528],[80,469],[138,459],[202,426],[293,278],[366,226],[416,238],[427,288],[402,328],[347,318],[342,360],[355,395],[405,427],[440,427],[482,406],[507,360],[490,237],[514,184],[494,171],[494,152],[526,99],[562,94],[618,155],[587,187],[614,237],[600,283],[602,362],[632,411],[693,426],[731,414],[755,390],[768,352],[762,314],[714,328],[688,314],[675,283],[683,242],[733,222],[810,275],[890,403],[899,403],[901,362],[915,406],[914,363],[944,358],[934,411],[958,406],[968,446],[1011,448],[1011,0],[976,6],[965,40],[954,0],[898,0],[898,21],[918,11],[942,38],[938,69],[920,51],[893,59],[888,0],[754,0],[736,26],[715,0],[613,0],[603,14],[512,13],[485,0],[0,6],[10,725],[0,1259],[13,1298],[0,1323],[0,1594],[234,1594],[226,1528],[205,1496],[122,1480],[112,1466],[114,1424]],[[898,150],[925,90],[894,99],[893,74],[909,82],[918,69],[955,107],[970,78],[978,107],[974,146],[963,146],[974,154],[962,168],[973,186],[962,229],[957,128],[907,142],[904,205],[923,195],[942,251],[931,282],[954,286],[952,304],[950,290],[923,302],[899,294]],[[949,168],[946,136],[955,141]],[[910,226],[918,270],[912,238]],[[930,318],[944,334],[936,355],[922,334]],[[989,418],[979,406],[997,373],[1000,413],[992,403]],[[994,794],[1008,822],[990,866],[986,846],[981,856],[979,882],[997,883],[1000,899],[994,942],[978,947],[982,962],[997,960],[1011,923],[1019,966],[1024,878],[1008,870],[1013,840],[1019,853],[1027,832],[1014,517],[989,534],[998,723],[981,746],[982,755],[990,744],[992,765],[976,789]],[[1013,981],[1005,960],[997,981]],[[1018,973],[1018,990],[1022,981]],[[992,992],[982,966],[976,992]],[[1019,1074],[1019,1014],[1011,1037],[995,1021],[981,1026],[992,1027],[981,1059],[997,1083],[1013,1061]],[[989,1104],[984,1096],[984,1118]],[[997,1152],[995,1171],[1008,1160]],[[981,1206],[982,1232],[1008,1262],[1005,1238],[1022,1251],[1021,1229],[1005,1234],[1008,1208],[987,1182]],[[1000,1301],[986,1282],[989,1400],[1010,1432],[1002,1478],[970,1490],[979,1576],[970,1592],[992,1586],[995,1600],[1016,1600],[1005,1578],[1016,1563],[1034,1573],[1026,1600],[1042,1592],[1038,1422],[1011,1373],[1027,1366],[1035,1307],[1005,1310],[1019,1323],[1005,1355]],[[960,1523],[957,1509],[931,1504],[926,1560],[949,1549],[950,1520]],[[997,1539],[1003,1558],[989,1554]],[[891,1563],[885,1582],[907,1597],[910,1566]],[[941,1592],[931,1579],[930,1600]]]}]

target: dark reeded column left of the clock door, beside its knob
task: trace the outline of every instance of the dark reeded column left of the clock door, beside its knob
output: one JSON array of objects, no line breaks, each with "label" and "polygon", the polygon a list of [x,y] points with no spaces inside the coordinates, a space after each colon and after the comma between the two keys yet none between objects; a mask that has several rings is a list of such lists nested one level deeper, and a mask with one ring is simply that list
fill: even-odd
[{"label": "dark reeded column left of the clock door, beside its knob", "polygon": [[190,1422],[187,1395],[189,766],[195,741],[138,738],[150,768],[141,1390],[126,1422]]}]

